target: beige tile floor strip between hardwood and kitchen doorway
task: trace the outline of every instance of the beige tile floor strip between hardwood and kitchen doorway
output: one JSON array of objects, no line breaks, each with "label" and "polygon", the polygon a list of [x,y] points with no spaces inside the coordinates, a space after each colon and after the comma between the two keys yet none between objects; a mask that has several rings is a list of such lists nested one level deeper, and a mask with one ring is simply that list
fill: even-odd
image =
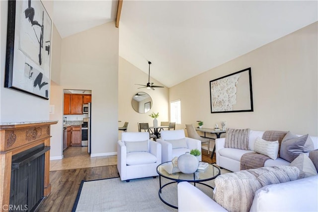
[{"label": "beige tile floor strip between hardwood and kitchen doorway", "polygon": [[63,154],[63,159],[50,160],[50,171],[117,164],[117,155],[90,157],[87,146],[68,147]]}]

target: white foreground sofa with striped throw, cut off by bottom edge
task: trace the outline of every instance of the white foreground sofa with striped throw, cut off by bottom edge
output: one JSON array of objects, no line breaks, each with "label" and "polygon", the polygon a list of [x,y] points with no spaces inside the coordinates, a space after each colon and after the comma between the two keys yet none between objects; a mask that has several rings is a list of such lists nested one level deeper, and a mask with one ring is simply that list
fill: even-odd
[{"label": "white foreground sofa with striped throw, cut off by bottom edge", "polygon": [[[257,190],[251,212],[317,212],[318,175]],[[226,212],[202,191],[188,182],[178,183],[178,212]]]}]

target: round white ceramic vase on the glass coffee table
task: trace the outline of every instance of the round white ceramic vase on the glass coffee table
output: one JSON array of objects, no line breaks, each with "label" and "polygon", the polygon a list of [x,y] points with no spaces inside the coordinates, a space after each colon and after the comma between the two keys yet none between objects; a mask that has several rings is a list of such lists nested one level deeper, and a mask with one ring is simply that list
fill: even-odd
[{"label": "round white ceramic vase on the glass coffee table", "polygon": [[178,157],[178,168],[184,174],[192,174],[198,169],[199,160],[196,156],[185,152]]}]

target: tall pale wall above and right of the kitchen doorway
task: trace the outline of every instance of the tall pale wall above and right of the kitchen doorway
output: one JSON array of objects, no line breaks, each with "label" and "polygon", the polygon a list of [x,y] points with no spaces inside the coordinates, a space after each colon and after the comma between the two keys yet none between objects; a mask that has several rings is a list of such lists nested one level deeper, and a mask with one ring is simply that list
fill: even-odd
[{"label": "tall pale wall above and right of the kitchen doorway", "polygon": [[[91,156],[117,152],[118,28],[109,22],[62,39],[63,89],[91,90]],[[60,99],[63,94],[58,93]],[[61,113],[61,117],[63,114]]]}]

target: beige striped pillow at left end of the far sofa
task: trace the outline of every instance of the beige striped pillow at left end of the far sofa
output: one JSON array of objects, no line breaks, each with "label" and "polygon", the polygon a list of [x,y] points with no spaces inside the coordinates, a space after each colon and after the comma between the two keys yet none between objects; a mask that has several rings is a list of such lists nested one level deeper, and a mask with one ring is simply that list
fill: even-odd
[{"label": "beige striped pillow at left end of the far sofa", "polygon": [[228,128],[225,135],[225,148],[248,150],[249,129]]}]

